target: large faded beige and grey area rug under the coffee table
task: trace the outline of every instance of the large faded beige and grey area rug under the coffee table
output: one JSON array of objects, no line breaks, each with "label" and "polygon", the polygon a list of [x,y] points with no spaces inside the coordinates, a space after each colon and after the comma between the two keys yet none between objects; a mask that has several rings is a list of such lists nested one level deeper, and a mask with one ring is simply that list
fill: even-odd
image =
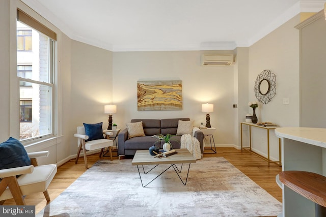
[{"label": "large faded beige and grey area rug under the coffee table", "polygon": [[[282,203],[222,157],[170,168],[143,188],[129,159],[99,160],[37,216],[276,216]],[[181,165],[177,165],[181,169]],[[142,174],[143,183],[165,170]],[[180,176],[185,180],[187,166]],[[150,169],[145,167],[145,171]],[[142,170],[141,170],[142,171]]]}]

